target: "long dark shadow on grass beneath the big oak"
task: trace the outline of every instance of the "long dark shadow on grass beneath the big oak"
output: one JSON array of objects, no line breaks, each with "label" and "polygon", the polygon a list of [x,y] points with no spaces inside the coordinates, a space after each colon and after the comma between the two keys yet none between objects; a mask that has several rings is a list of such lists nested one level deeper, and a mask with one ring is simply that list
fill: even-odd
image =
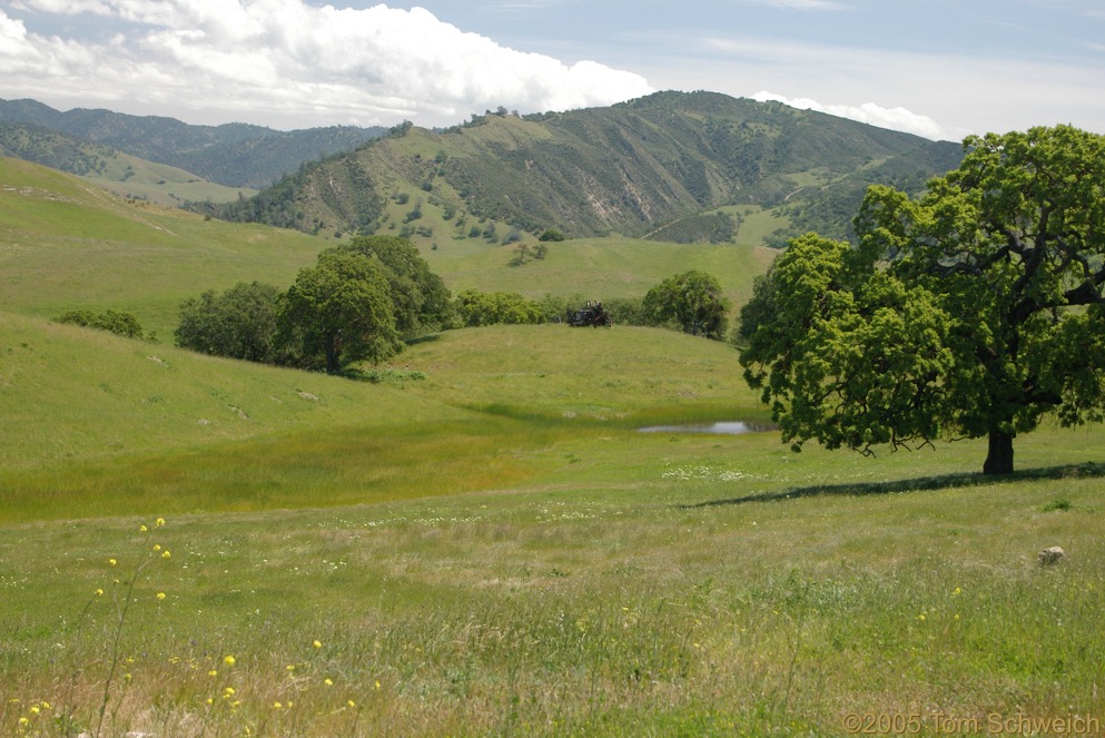
[{"label": "long dark shadow on grass beneath the big oak", "polygon": [[680,505],[684,509],[716,508],[718,505],[739,505],[748,502],[778,502],[797,500],[799,498],[819,496],[864,496],[868,494],[901,494],[904,492],[928,492],[946,490],[954,486],[981,486],[984,484],[1016,484],[1036,480],[1062,480],[1105,476],[1105,464],[1086,462],[1084,464],[1063,464],[1057,466],[1040,466],[1026,469],[1013,474],[983,474],[980,472],[960,474],[940,474],[937,476],[918,476],[915,479],[892,480],[889,482],[861,482],[855,484],[815,484],[808,486],[791,486],[781,492],[763,492],[728,500],[708,500],[695,504]]}]

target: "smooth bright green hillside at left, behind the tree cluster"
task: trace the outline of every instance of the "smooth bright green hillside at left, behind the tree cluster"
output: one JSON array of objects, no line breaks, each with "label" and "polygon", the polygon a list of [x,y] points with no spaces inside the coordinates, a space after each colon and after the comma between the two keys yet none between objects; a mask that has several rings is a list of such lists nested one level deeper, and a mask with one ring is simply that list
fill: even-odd
[{"label": "smooth bright green hillside at left, behind the tree cluster", "polygon": [[149,203],[0,158],[0,311],[134,313],[171,341],[180,303],[239,281],[287,285],[325,243]]}]

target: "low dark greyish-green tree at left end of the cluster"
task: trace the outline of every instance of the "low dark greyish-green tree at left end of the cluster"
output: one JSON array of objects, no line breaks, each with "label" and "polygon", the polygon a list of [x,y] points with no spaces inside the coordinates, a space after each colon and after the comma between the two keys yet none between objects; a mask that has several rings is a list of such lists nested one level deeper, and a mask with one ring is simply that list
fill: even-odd
[{"label": "low dark greyish-green tree at left end of the cluster", "polygon": [[279,289],[259,282],[239,282],[221,294],[209,289],[180,305],[176,343],[205,354],[278,363],[279,298]]}]

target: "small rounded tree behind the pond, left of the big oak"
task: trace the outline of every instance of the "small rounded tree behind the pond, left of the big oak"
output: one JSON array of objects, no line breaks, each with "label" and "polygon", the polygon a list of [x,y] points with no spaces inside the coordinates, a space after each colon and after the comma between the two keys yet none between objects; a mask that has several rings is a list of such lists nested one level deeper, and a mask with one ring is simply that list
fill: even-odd
[{"label": "small rounded tree behind the pond, left of the big oak", "polygon": [[675,324],[684,333],[722,340],[730,303],[709,274],[685,272],[669,277],[644,296],[643,311],[653,325]]}]

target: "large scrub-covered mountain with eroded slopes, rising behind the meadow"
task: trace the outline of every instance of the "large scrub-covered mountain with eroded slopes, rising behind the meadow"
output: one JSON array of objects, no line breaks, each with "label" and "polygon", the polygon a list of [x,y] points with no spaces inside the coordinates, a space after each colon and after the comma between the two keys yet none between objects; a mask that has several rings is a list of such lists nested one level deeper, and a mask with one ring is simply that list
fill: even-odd
[{"label": "large scrub-covered mountain with eroded slopes, rising behind the meadow", "polygon": [[[445,131],[399,126],[213,213],[313,232],[402,225],[438,240],[509,236],[487,233],[489,220],[519,235],[555,227],[679,240],[663,227],[683,223],[748,243],[744,215],[772,210],[779,233],[766,240],[810,226],[842,237],[868,184],[920,189],[960,156],[955,144],[777,102],[660,92],[609,108],[474,116]],[[711,220],[688,223],[700,217]]]}]

